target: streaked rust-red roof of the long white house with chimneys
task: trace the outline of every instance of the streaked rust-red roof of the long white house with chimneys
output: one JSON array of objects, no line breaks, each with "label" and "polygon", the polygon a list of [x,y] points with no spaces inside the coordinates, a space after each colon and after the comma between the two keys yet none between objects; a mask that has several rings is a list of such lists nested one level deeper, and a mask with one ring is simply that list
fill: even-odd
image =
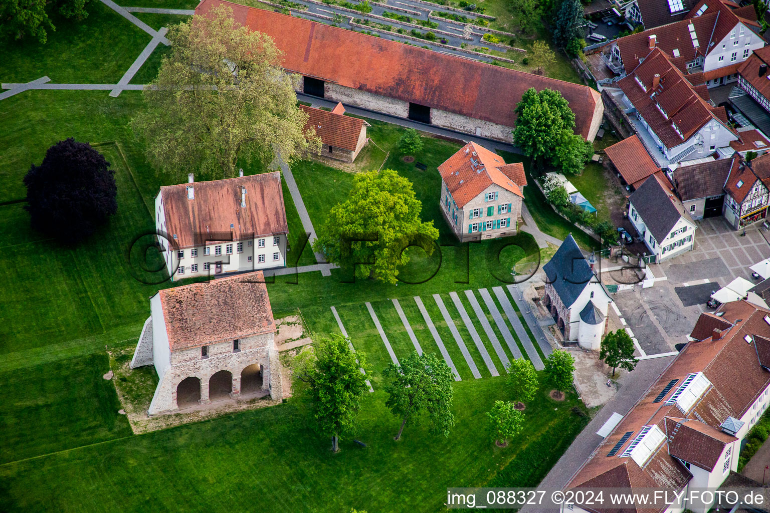
[{"label": "streaked rust-red roof of the long white house with chimneys", "polygon": [[[242,188],[246,207],[241,207]],[[159,194],[169,242],[179,248],[289,231],[280,172],[165,185]]]}]

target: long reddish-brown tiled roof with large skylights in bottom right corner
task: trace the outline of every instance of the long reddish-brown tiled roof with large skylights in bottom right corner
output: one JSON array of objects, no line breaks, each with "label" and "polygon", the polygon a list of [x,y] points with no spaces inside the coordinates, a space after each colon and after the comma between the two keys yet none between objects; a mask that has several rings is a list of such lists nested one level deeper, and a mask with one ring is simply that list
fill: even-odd
[{"label": "long reddish-brown tiled roof with large skylights in bottom right corner", "polygon": [[[731,328],[716,340],[688,343],[575,472],[567,488],[679,490],[691,479],[691,473],[677,458],[708,468],[718,446],[735,440],[720,431],[721,425],[728,417],[741,418],[770,385],[770,372],[759,365],[755,344],[745,341],[745,335],[770,336],[770,325],[763,319],[770,311],[748,301],[733,301],[721,305],[718,312]],[[740,379],[736,379],[736,369]],[[697,375],[691,383],[698,386],[677,395],[690,375]],[[669,402],[674,395],[678,399]],[[634,438],[643,430],[658,434],[651,437],[652,443],[645,441],[630,451]],[[595,507],[588,511],[618,510]]]}]

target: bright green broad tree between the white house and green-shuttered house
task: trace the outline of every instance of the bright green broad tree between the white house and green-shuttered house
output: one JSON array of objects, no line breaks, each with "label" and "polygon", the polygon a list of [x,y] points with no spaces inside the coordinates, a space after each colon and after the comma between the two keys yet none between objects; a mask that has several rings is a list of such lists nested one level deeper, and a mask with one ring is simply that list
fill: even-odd
[{"label": "bright green broad tree between the white house and green-shuttered house", "polygon": [[356,175],[346,201],[333,206],[313,243],[313,251],[347,268],[358,278],[396,283],[398,267],[407,264],[405,249],[434,250],[438,230],[420,221],[422,203],[412,183],[392,169]]}]

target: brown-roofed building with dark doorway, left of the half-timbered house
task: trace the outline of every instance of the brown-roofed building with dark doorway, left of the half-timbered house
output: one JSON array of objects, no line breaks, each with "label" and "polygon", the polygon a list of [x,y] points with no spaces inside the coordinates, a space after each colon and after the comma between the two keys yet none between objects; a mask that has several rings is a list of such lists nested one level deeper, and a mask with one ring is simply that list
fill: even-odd
[{"label": "brown-roofed building with dark doorway, left of the half-timbered house", "polygon": [[721,158],[711,162],[681,165],[671,174],[674,192],[694,221],[722,214],[725,203],[725,182],[732,169],[737,170],[741,159]]}]

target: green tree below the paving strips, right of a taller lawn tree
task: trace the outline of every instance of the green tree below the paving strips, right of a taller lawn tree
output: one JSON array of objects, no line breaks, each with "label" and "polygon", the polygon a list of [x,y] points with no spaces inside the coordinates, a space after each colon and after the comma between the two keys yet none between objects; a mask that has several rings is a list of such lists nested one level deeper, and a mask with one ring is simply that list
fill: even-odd
[{"label": "green tree below the paving strips, right of a taller lawn tree", "polygon": [[401,419],[396,440],[401,438],[407,422],[417,424],[423,415],[430,420],[431,431],[449,436],[454,426],[452,415],[452,381],[454,375],[443,359],[434,354],[417,351],[401,360],[401,365],[390,364],[385,369],[385,405]]}]

